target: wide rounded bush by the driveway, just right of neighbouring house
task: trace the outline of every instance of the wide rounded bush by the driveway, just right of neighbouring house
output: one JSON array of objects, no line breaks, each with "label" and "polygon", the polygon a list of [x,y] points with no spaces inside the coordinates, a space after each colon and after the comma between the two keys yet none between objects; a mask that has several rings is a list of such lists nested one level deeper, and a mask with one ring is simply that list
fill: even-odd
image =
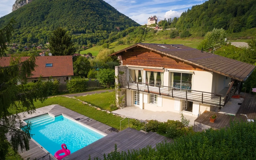
[{"label": "wide rounded bush by the driveway, just right of neighbouring house", "polygon": [[87,90],[88,82],[84,78],[74,78],[67,82],[67,89],[69,93],[80,93]]}]

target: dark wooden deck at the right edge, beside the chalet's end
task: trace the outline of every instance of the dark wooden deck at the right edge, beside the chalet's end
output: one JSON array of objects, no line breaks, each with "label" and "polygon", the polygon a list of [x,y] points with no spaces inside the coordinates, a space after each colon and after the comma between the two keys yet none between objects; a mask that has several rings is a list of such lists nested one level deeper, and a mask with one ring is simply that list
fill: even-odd
[{"label": "dark wooden deck at the right edge, beside the chalet's end", "polygon": [[237,114],[246,114],[248,119],[256,119],[256,96],[250,93],[241,93],[244,101],[237,111]]}]

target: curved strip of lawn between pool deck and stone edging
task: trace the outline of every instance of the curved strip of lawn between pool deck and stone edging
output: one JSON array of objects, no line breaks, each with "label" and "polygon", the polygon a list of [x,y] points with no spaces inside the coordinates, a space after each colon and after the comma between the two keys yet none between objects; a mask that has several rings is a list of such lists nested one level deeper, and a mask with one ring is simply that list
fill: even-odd
[{"label": "curved strip of lawn between pool deck and stone edging", "polygon": [[[104,111],[97,110],[89,105],[82,104],[82,102],[76,99],[67,98],[67,97],[53,97],[53,98],[48,98],[43,103],[41,102],[34,103],[36,108],[40,108],[40,107],[44,107],[52,104],[61,105],[72,111],[75,111],[77,113],[90,117],[92,119],[95,119],[101,123],[114,127],[116,129],[120,129],[120,120],[123,119],[122,117],[113,115],[112,113],[106,113]],[[121,127],[122,129],[127,128],[128,120],[122,121]]]}]

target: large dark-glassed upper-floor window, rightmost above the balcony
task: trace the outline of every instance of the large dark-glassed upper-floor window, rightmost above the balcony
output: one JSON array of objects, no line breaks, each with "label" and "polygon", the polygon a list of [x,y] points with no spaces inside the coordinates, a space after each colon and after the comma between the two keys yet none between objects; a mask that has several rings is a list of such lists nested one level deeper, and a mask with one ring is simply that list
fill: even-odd
[{"label": "large dark-glassed upper-floor window, rightmost above the balcony", "polygon": [[171,87],[191,90],[192,73],[171,72]]}]

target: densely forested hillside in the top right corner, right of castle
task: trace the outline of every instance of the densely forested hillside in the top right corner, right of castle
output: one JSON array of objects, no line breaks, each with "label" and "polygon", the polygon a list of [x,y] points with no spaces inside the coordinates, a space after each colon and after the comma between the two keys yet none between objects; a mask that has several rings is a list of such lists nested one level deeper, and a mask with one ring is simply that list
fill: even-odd
[{"label": "densely forested hillside in the top right corner, right of castle", "polygon": [[209,0],[183,12],[175,27],[198,32],[198,36],[214,28],[223,28],[228,33],[254,28],[256,0]]}]

